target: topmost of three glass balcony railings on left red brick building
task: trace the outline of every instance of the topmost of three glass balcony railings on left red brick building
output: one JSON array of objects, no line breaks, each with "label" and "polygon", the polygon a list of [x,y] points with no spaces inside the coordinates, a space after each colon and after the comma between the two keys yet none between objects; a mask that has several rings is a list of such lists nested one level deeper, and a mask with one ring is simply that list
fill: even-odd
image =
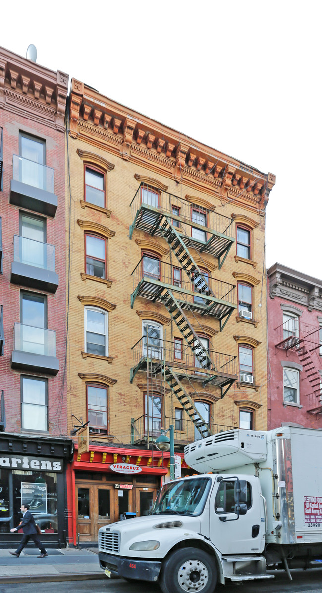
[{"label": "topmost of three glass balcony railings on left red brick building", "polygon": [[14,154],[12,157],[14,181],[36,187],[44,192],[55,192],[55,171],[39,162]]}]

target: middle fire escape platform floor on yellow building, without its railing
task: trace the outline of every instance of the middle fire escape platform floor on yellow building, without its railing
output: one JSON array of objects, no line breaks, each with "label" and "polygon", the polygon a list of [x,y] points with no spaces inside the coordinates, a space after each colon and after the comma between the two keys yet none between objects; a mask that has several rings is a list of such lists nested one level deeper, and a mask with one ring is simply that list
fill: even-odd
[{"label": "middle fire escape platform floor on yellow building, without its railing", "polygon": [[[206,295],[204,292],[199,293],[196,291],[189,291],[188,289],[181,286],[173,286],[171,284],[161,282],[161,280],[149,278],[148,276],[144,276],[139,281],[135,291],[132,292],[131,308],[133,308],[136,297],[146,298],[149,299],[149,301],[160,302],[163,304],[164,301],[161,299],[161,296],[163,292],[168,289],[173,292],[180,293],[181,295],[185,294],[191,297],[190,301],[182,301],[178,299],[181,309],[186,311],[194,311],[195,313],[200,313],[201,315],[210,315],[211,317],[222,320],[227,316],[229,318],[233,311],[237,308],[237,305],[234,303],[213,298]],[[202,298],[203,301],[207,302],[207,305],[193,302],[193,297]]]}]

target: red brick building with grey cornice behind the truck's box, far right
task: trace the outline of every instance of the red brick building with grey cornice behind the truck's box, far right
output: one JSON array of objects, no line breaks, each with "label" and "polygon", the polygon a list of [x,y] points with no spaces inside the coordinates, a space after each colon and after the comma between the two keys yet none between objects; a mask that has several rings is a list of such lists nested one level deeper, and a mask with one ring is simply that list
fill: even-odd
[{"label": "red brick building with grey cornice behind the truck's box, far right", "polygon": [[322,280],[267,270],[267,429],[322,428]]}]

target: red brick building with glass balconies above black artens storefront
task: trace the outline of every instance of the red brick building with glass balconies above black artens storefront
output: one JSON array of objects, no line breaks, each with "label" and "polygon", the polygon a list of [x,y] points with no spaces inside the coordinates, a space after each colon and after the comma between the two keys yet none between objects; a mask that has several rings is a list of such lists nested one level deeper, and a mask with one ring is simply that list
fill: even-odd
[{"label": "red brick building with glass balconies above black artens storefront", "polygon": [[67,88],[0,48],[1,546],[27,502],[45,544],[65,537]]}]

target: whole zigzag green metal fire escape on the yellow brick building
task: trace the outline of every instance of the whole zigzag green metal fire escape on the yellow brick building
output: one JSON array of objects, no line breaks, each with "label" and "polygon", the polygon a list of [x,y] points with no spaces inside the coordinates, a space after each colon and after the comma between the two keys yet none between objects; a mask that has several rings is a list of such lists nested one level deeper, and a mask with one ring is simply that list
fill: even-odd
[{"label": "whole zigzag green metal fire escape on the yellow brick building", "polygon": [[[193,367],[197,366],[200,369],[198,371],[200,378],[197,378],[202,380],[202,385],[205,386],[208,383],[218,385],[221,387],[222,397],[224,397],[234,381],[237,380],[234,365],[236,357],[229,357],[229,355],[219,352],[208,352],[200,341],[197,332],[193,329],[185,311],[192,314],[198,312],[202,316],[209,315],[217,318],[222,331],[236,308],[236,304],[233,302],[235,286],[215,280],[216,295],[209,286],[208,276],[200,270],[191,251],[199,251],[199,254],[202,251],[208,251],[208,253],[218,257],[220,269],[234,243],[232,220],[207,211],[205,214],[202,212],[202,216],[207,223],[210,223],[209,226],[199,224],[192,221],[190,204],[177,196],[165,192],[161,194],[145,184],[141,184],[139,187],[131,206],[133,223],[130,226],[130,238],[132,238],[134,228],[149,232],[150,235],[161,235],[168,242],[171,253],[174,253],[180,264],[180,267],[175,267],[179,272],[180,280],[175,282],[173,279],[174,266],[172,264],[170,264],[170,272],[163,273],[163,278],[161,278],[161,274],[152,275],[151,277],[144,270],[144,257],[142,257],[138,266],[132,272],[133,293],[131,295],[131,307],[133,307],[138,296],[148,298],[152,302],[162,303],[170,313],[171,320],[178,327],[181,336],[183,336],[187,350],[190,351],[190,358],[187,355],[186,365],[183,368],[183,365],[174,359],[176,357],[170,352],[167,343],[164,343],[162,346],[162,353],[164,354],[162,356],[160,353],[155,356],[156,353],[149,352],[145,346],[147,355],[145,361],[145,356],[142,356],[142,340],[139,340],[133,346],[133,348],[138,346],[138,353],[136,355],[136,364],[131,370],[130,380],[132,382],[136,372],[144,369],[145,365],[148,371],[150,362],[153,365],[155,375],[162,372],[164,380],[203,438],[210,435],[211,431],[197,410],[192,397],[187,393],[181,379],[189,380],[191,385],[191,379],[196,380],[196,371]],[[191,236],[187,234],[187,226],[196,229],[195,237],[193,232]],[[180,232],[178,227],[180,227]],[[216,230],[216,227],[219,227],[220,230]],[[196,236],[198,232],[199,236]],[[200,236],[204,237],[205,240],[200,240]],[[169,264],[164,263],[162,265],[167,267]],[[177,297],[177,294],[179,297]],[[197,302],[195,302],[194,294],[202,295],[202,298],[198,298]],[[199,322],[198,325],[201,333],[205,333]],[[151,357],[149,357],[149,353]],[[215,356],[212,356],[212,354]],[[164,362],[162,362],[162,359],[164,359]]]}]

